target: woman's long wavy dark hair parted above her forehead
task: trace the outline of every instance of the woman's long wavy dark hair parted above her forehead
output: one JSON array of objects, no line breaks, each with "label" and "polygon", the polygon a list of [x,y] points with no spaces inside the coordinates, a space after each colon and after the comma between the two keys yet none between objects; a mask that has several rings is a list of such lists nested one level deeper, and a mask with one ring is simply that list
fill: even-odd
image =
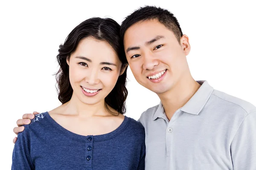
[{"label": "woman's long wavy dark hair parted above her forehead", "polygon": [[[116,51],[119,60],[122,62],[122,68],[128,64],[119,32],[120,26],[116,21],[111,18],[99,17],[85,20],[70,32],[64,44],[59,46],[59,54],[57,55],[60,68],[55,76],[58,85],[58,99],[62,104],[70,101],[73,94],[69,79],[69,65],[67,65],[67,59],[70,59],[70,55],[76,51],[76,48],[82,39],[93,37],[97,40],[108,42]],[[110,111],[110,108],[108,108],[109,105],[111,108],[118,111],[118,113],[124,114],[126,112],[125,99],[128,95],[128,91],[125,87],[126,72],[127,68],[125,68],[124,73],[119,76],[115,87],[105,98],[105,107],[108,111]]]}]

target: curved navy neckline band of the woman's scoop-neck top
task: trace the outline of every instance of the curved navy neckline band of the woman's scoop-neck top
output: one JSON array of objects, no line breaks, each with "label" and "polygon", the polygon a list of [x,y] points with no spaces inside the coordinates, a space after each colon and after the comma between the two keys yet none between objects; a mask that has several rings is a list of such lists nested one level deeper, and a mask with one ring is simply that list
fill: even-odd
[{"label": "curved navy neckline band of the woman's scoop-neck top", "polygon": [[83,136],[83,135],[73,133],[73,132],[65,129],[61,125],[59,125],[54,119],[52,119],[52,117],[49,115],[48,111],[45,112],[45,113],[42,113],[42,114],[44,114],[44,116],[47,118],[48,122],[50,122],[50,124],[53,127],[55,127],[55,129],[59,130],[62,134],[66,135],[66,136],[69,136],[72,139],[79,140],[79,141],[82,141],[82,142],[88,141],[88,137],[92,137],[93,141],[104,141],[104,140],[112,139],[113,137],[122,133],[122,131],[125,130],[125,128],[128,126],[128,123],[131,120],[130,118],[125,116],[125,119],[123,120],[121,125],[119,125],[119,127],[117,127],[115,130],[113,130],[110,133],[106,133],[106,134],[102,134],[102,135]]}]

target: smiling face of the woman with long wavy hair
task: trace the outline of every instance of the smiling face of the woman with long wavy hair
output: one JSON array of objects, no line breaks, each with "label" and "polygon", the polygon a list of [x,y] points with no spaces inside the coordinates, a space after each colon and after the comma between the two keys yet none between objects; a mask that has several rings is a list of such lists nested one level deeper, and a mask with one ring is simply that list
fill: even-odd
[{"label": "smiling face of the woman with long wavy hair", "polygon": [[116,85],[122,66],[108,42],[92,37],[79,42],[67,64],[73,97],[88,105],[104,101]]}]

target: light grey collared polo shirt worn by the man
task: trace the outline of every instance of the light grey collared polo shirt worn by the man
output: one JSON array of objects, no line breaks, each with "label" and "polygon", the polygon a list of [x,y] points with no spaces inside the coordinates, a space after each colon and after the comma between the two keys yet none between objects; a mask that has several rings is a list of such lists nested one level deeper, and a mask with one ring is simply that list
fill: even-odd
[{"label": "light grey collared polo shirt worn by the man", "polygon": [[198,82],[170,121],[161,103],[142,113],[145,170],[256,170],[256,107]]}]

